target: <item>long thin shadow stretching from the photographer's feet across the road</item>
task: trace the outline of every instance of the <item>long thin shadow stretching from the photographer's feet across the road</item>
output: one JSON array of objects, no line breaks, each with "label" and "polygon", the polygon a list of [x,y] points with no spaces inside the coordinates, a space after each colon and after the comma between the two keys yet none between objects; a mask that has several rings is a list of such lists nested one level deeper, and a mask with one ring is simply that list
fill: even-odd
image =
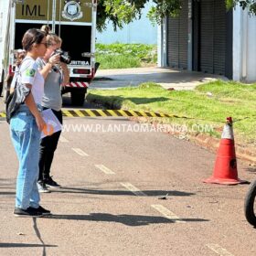
[{"label": "long thin shadow stretching from the photographer's feet across the road", "polygon": [[[76,188],[76,187],[61,187],[58,190],[51,190],[54,193],[84,193],[84,194],[94,194],[94,195],[110,195],[110,196],[131,196],[132,192],[127,190],[92,190],[86,188]],[[143,190],[146,196],[149,197],[159,197],[168,196],[173,197],[188,197],[195,195],[195,193],[176,191],[176,190]],[[135,195],[134,195],[135,196]],[[135,196],[138,197],[138,196]],[[142,196],[143,197],[143,196]]]}]

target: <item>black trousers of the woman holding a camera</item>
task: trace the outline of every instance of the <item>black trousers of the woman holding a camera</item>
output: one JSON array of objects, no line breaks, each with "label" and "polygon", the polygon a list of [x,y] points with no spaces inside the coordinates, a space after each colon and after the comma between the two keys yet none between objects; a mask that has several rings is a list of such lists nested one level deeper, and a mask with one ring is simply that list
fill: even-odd
[{"label": "black trousers of the woman holding a camera", "polygon": [[[44,108],[47,110],[47,108]],[[54,111],[54,114],[62,124],[62,112]],[[41,140],[40,144],[40,156],[39,156],[39,176],[38,180],[44,180],[49,177],[50,166],[53,160],[54,152],[59,142],[59,136],[61,131],[53,133],[51,136],[46,136]]]}]

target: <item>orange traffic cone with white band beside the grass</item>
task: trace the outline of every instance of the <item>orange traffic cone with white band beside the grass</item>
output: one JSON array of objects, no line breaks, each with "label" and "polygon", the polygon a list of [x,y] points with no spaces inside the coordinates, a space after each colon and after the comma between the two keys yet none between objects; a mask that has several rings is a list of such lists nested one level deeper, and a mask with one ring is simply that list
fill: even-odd
[{"label": "orange traffic cone with white band beside the grass", "polygon": [[240,180],[240,178],[238,177],[237,159],[231,117],[227,118],[227,123],[225,124],[221,135],[219,151],[214,166],[213,176],[204,180],[204,182],[226,185],[247,183],[247,181]]}]

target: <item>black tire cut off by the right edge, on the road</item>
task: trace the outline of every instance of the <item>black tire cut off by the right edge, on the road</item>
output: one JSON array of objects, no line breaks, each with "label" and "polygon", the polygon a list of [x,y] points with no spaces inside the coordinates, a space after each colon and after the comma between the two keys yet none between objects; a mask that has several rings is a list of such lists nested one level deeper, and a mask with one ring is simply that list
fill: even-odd
[{"label": "black tire cut off by the right edge, on the road", "polygon": [[256,180],[254,180],[245,197],[244,214],[247,221],[256,227]]}]

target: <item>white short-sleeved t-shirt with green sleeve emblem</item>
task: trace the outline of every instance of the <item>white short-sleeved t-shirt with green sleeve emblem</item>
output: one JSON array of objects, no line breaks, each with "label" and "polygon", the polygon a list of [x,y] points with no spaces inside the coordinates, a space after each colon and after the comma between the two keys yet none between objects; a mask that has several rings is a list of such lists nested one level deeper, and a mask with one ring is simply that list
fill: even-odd
[{"label": "white short-sleeved t-shirt with green sleeve emblem", "polygon": [[26,57],[20,66],[20,82],[32,85],[31,92],[36,104],[41,104],[44,95],[44,77],[39,73],[35,59]]}]

